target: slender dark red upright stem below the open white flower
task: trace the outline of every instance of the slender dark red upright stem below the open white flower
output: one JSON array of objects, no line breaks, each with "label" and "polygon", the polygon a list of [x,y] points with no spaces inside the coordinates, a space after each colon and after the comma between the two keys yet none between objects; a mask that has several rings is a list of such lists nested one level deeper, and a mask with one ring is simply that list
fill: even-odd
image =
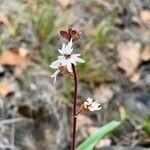
[{"label": "slender dark red upright stem below the open white flower", "polygon": [[72,150],[76,148],[76,125],[77,125],[77,116],[76,116],[76,106],[77,106],[77,74],[74,64],[72,64],[73,70],[73,79],[74,79],[74,95],[73,95],[73,134],[72,134]]}]

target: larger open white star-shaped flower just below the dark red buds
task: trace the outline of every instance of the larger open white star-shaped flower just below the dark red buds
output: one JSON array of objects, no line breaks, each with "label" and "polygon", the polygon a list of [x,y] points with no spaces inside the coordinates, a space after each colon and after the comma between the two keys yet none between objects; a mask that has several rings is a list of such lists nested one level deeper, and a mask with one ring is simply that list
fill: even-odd
[{"label": "larger open white star-shaped flower just below the dark red buds", "polygon": [[56,82],[56,78],[58,73],[60,72],[60,68],[65,66],[67,68],[67,71],[72,73],[72,64],[76,65],[77,62],[85,62],[83,59],[79,58],[81,54],[72,54],[72,44],[72,40],[70,40],[67,45],[63,43],[62,49],[58,49],[61,55],[58,56],[58,59],[50,65],[51,68],[57,69],[57,71],[51,75],[51,77],[54,78],[54,83]]}]

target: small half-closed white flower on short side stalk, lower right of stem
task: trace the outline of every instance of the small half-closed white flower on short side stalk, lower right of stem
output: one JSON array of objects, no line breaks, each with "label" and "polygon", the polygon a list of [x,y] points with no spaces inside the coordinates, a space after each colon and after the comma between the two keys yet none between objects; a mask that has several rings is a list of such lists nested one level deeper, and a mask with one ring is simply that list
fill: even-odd
[{"label": "small half-closed white flower on short side stalk, lower right of stem", "polygon": [[101,105],[96,101],[93,101],[93,99],[90,97],[83,103],[83,107],[84,110],[88,111],[96,111],[101,109]]}]

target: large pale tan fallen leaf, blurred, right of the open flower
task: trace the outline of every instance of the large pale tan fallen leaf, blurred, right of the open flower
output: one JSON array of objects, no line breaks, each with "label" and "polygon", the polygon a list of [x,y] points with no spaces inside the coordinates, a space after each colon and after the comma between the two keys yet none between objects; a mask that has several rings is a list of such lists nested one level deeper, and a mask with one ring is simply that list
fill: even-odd
[{"label": "large pale tan fallen leaf, blurred, right of the open flower", "polygon": [[127,76],[131,76],[137,69],[140,59],[140,44],[137,42],[120,42],[117,46],[118,66]]}]

